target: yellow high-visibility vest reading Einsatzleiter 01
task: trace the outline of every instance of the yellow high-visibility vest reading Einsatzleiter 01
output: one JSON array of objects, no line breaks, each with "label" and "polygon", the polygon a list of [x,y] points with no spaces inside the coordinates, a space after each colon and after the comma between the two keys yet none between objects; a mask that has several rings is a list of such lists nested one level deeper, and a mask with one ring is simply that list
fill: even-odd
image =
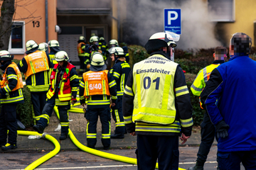
[{"label": "yellow high-visibility vest reading Einsatzleiter 01", "polygon": [[163,55],[134,64],[132,121],[168,125],[176,117],[174,75],[178,64]]}]

